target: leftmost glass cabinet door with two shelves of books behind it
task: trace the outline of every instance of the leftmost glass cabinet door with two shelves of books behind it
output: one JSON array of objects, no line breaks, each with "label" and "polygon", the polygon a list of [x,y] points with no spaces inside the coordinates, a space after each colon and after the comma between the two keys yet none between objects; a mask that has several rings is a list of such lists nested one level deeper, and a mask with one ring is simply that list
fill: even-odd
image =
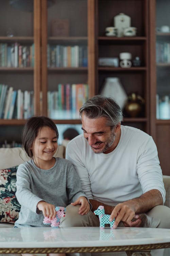
[{"label": "leftmost glass cabinet door with two shelves of books behind it", "polygon": [[34,2],[0,1],[0,147],[20,145],[34,111]]}]

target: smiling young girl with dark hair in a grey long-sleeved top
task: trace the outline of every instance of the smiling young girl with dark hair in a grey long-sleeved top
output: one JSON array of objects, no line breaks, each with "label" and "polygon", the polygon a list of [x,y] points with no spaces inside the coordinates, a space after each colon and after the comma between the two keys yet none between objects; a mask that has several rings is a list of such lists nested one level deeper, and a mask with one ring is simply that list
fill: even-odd
[{"label": "smiling young girl with dark hair in a grey long-sleeved top", "polygon": [[43,224],[44,217],[55,218],[56,206],[66,207],[73,202],[81,204],[79,214],[89,212],[73,165],[66,159],[53,157],[57,139],[57,127],[48,117],[31,117],[23,128],[22,145],[31,160],[17,170],[16,197],[21,210],[15,227],[47,227]]}]

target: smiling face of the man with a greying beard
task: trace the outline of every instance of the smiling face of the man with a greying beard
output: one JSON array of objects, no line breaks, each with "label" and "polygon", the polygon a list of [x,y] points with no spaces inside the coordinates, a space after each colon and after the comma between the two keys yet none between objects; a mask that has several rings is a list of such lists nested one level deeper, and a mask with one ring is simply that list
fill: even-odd
[{"label": "smiling face of the man with a greying beard", "polygon": [[117,146],[116,127],[106,126],[106,117],[88,118],[82,114],[82,130],[94,153],[110,153]]}]

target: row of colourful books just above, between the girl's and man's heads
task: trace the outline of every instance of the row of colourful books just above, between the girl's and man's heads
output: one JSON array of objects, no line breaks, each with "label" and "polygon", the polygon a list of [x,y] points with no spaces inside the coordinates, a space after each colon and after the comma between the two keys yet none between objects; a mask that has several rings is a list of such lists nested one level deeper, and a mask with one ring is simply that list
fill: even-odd
[{"label": "row of colourful books just above, between the girl's and man's heads", "polygon": [[53,119],[77,119],[79,109],[88,99],[87,84],[58,84],[48,91],[48,116]]}]

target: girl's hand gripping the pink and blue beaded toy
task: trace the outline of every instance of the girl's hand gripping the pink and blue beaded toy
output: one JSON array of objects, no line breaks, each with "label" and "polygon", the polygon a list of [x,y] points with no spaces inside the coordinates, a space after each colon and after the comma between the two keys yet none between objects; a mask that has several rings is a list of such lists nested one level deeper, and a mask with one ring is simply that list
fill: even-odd
[{"label": "girl's hand gripping the pink and blue beaded toy", "polygon": [[44,217],[48,217],[53,219],[56,217],[56,210],[55,206],[51,203],[47,203],[45,201],[39,201],[37,203],[37,208],[43,212]]}]

